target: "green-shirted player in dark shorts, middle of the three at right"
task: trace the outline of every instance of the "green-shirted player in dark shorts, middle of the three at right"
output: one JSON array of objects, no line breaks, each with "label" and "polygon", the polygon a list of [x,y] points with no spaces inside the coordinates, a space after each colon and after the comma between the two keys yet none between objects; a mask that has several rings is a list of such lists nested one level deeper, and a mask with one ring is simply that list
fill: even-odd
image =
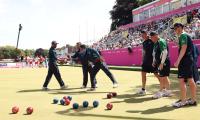
[{"label": "green-shirted player in dark shorts, middle of the three at right", "polygon": [[158,33],[153,31],[150,33],[151,40],[154,42],[153,63],[152,66],[158,68],[160,78],[160,91],[153,98],[171,96],[170,82],[168,79],[170,73],[170,60],[167,42],[160,38]]}]

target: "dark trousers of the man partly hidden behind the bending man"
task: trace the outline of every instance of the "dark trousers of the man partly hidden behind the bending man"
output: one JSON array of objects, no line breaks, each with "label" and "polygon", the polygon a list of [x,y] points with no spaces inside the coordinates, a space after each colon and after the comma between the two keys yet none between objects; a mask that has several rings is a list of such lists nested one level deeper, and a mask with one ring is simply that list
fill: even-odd
[{"label": "dark trousers of the man partly hidden behind the bending man", "polygon": [[[82,64],[82,70],[83,70],[83,86],[87,86],[88,83],[88,73],[91,76],[92,73],[92,66],[88,64]],[[95,84],[97,84],[96,78],[94,78]]]}]

